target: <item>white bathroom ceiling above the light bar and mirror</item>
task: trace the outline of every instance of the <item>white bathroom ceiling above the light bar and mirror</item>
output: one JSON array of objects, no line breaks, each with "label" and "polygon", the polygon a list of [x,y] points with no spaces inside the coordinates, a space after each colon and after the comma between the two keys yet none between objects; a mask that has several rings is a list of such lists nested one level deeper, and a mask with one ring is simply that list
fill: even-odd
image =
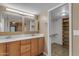
[{"label": "white bathroom ceiling above the light bar and mirror", "polygon": [[2,5],[32,14],[47,11],[61,3],[3,3]]}]

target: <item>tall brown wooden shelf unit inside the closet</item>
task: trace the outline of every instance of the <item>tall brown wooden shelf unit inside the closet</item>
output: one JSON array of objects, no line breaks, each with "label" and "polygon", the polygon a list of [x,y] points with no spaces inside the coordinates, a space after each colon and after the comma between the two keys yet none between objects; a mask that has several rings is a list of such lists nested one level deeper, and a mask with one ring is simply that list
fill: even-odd
[{"label": "tall brown wooden shelf unit inside the closet", "polygon": [[69,48],[69,18],[64,18],[62,22],[63,46]]}]

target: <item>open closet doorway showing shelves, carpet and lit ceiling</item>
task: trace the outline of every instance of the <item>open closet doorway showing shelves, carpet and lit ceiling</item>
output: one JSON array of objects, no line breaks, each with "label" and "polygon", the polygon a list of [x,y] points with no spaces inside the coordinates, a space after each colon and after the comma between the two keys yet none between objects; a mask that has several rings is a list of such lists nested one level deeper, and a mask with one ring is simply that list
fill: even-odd
[{"label": "open closet doorway showing shelves, carpet and lit ceiling", "polygon": [[69,4],[49,13],[49,38],[52,56],[69,56]]}]

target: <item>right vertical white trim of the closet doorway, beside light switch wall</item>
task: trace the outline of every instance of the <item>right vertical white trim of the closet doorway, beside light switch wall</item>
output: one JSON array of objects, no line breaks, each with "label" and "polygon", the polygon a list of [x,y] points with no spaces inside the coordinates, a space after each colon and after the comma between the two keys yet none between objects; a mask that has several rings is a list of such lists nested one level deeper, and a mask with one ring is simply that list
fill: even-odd
[{"label": "right vertical white trim of the closet doorway, beside light switch wall", "polygon": [[72,4],[69,4],[69,55],[72,56]]}]

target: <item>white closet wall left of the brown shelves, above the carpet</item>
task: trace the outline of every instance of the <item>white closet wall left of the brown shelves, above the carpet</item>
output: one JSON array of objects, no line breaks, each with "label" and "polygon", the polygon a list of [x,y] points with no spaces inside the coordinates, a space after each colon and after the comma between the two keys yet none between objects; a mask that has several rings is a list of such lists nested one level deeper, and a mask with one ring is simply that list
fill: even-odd
[{"label": "white closet wall left of the brown shelves, above the carpet", "polygon": [[[53,20],[51,21],[51,27],[50,27],[51,31],[51,41],[52,43],[58,43],[62,45],[62,19],[58,18],[57,20]],[[57,34],[55,36],[53,36],[54,34]]]}]

